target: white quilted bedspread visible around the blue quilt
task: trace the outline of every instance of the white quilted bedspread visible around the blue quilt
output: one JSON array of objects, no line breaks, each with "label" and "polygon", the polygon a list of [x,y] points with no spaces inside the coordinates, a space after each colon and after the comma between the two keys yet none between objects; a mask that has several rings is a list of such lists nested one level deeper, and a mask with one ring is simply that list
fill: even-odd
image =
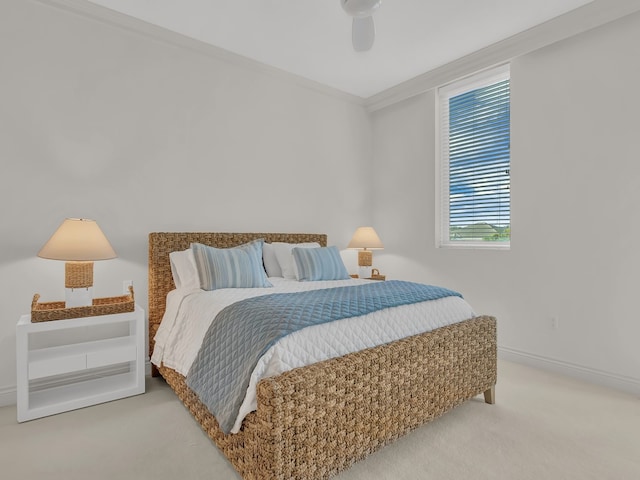
[{"label": "white quilted bedspread visible around the blue quilt", "polygon": [[[272,277],[269,281],[273,288],[170,292],[162,323],[155,336],[151,361],[155,365],[164,364],[186,376],[205,333],[218,312],[245,298],[357,285],[369,280],[297,282]],[[473,316],[474,312],[466,301],[460,297],[446,297],[315,325],[288,335],[273,345],[258,361],[232,432],[237,433],[244,417],[256,409],[256,387],[262,378],[417,335]]]}]

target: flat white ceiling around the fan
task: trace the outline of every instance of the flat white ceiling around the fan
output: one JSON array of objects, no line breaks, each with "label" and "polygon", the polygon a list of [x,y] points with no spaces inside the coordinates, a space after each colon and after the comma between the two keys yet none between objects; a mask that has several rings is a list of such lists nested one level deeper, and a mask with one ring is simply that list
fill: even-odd
[{"label": "flat white ceiling around the fan", "polygon": [[362,98],[590,3],[382,0],[355,52],[340,0],[90,1]]}]

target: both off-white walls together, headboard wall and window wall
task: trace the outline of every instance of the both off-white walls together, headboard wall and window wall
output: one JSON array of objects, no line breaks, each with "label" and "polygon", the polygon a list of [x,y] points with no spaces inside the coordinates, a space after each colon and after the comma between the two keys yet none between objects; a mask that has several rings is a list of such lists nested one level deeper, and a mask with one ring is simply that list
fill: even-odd
[{"label": "both off-white walls together, headboard wall and window wall", "polygon": [[499,318],[503,354],[640,391],[639,15],[514,60],[509,252],[434,246],[432,91],[368,117],[30,0],[1,2],[0,32],[0,403],[19,315],[35,292],[63,298],[62,262],[35,255],[66,216],[98,220],[119,254],[96,263],[96,294],[133,279],[145,307],[150,231],[319,231],[343,248],[370,223],[383,273],[463,292]]}]

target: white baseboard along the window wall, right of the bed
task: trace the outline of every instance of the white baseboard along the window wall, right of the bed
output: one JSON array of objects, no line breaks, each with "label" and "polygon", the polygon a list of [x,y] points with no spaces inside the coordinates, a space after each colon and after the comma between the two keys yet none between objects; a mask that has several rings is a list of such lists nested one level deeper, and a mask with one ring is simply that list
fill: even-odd
[{"label": "white baseboard along the window wall, right of the bed", "polygon": [[623,392],[640,395],[640,379],[605,372],[595,368],[576,365],[574,363],[557,360],[555,358],[534,355],[515,348],[498,347],[498,356],[505,360],[522,363],[541,370],[560,373],[568,377],[584,380],[596,385],[614,388]]}]

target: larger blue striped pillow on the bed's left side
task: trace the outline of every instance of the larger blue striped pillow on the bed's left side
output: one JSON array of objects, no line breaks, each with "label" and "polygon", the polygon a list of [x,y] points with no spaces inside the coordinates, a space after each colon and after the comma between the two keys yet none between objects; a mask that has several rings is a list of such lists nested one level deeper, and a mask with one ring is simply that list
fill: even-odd
[{"label": "larger blue striped pillow on the bed's left side", "polygon": [[262,267],[263,239],[253,240],[233,248],[215,248],[192,243],[191,249],[198,267],[200,288],[273,287]]}]

